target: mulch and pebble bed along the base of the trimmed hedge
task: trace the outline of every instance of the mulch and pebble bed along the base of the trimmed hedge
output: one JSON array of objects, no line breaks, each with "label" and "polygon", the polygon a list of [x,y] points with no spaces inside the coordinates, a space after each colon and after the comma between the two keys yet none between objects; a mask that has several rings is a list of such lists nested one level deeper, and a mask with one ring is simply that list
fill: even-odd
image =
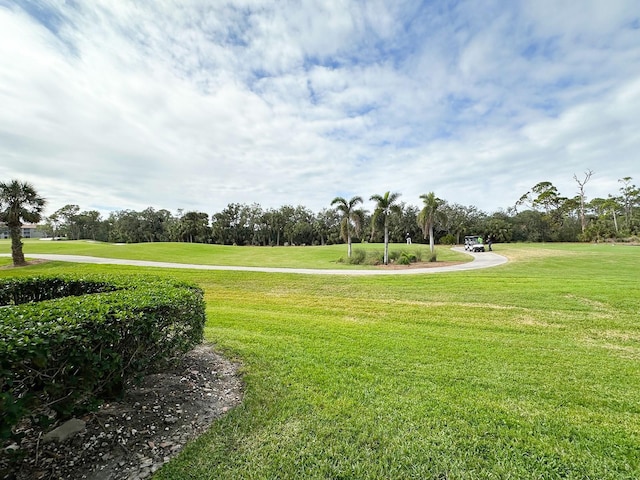
[{"label": "mulch and pebble bed along the base of the trimmed hedge", "polygon": [[0,478],[148,478],[240,403],[238,368],[201,345],[170,369],[130,384],[122,401],[81,417],[86,428],[68,440],[45,443],[45,432],[24,426],[20,443],[0,451]]}]

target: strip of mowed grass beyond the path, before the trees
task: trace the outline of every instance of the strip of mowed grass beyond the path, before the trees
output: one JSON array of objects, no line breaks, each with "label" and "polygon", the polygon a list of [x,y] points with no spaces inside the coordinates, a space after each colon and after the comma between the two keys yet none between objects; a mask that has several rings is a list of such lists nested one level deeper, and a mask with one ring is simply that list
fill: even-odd
[{"label": "strip of mowed grass beyond the path, before the trees", "polygon": [[[114,244],[77,241],[23,240],[24,253],[54,253],[86,255],[102,258],[122,258],[127,260],[162,260],[173,263],[194,263],[200,265],[241,265],[247,267],[284,267],[284,268],[324,268],[354,269],[375,268],[340,263],[347,257],[346,245],[296,246],[296,247],[237,247],[230,245],[205,245],[200,243],[132,243]],[[9,240],[0,240],[0,252],[11,251]],[[355,249],[382,252],[384,245],[375,243],[353,244]],[[428,258],[428,245],[391,244],[389,250],[414,253],[422,252],[422,258]],[[438,261],[469,261],[467,255],[451,251],[447,247],[438,247]]]}]

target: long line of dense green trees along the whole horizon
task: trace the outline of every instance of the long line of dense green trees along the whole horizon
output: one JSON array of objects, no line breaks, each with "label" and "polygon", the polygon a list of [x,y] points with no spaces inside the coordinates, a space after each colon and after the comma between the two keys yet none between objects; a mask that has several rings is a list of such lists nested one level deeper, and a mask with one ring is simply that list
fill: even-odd
[{"label": "long line of dense green trees along the whole horizon", "polygon": [[[337,197],[313,212],[303,205],[262,208],[230,203],[209,215],[201,211],[172,213],[152,207],[120,210],[103,218],[95,210],[65,205],[43,226],[49,236],[105,242],[197,242],[224,245],[325,245],[351,242],[461,243],[467,234],[491,235],[496,242],[602,241],[640,233],[640,190],[631,177],[619,180],[616,194],[587,198],[593,172],[574,176],[578,194],[566,197],[550,182],[540,182],[516,204],[487,213],[438,198],[420,197],[422,205],[401,201],[400,193],[372,195],[374,211],[357,208],[362,197]],[[385,197],[386,195],[386,197]]]}]

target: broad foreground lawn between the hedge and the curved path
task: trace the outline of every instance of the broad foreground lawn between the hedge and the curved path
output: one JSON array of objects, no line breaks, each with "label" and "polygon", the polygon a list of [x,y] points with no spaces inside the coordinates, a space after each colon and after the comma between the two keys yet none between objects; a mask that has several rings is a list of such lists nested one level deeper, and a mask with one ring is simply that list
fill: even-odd
[{"label": "broad foreground lawn between the hedge and the curved path", "polygon": [[437,275],[0,275],[205,289],[206,337],[242,361],[245,399],[156,478],[640,478],[640,248],[495,250],[511,261]]}]

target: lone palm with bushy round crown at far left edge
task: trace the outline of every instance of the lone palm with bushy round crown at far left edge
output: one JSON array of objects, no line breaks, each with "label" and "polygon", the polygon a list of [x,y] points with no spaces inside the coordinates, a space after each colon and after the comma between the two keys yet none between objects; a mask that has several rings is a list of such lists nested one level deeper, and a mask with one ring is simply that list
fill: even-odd
[{"label": "lone palm with bushy round crown at far left edge", "polygon": [[18,180],[0,182],[0,222],[6,223],[9,227],[14,266],[27,264],[20,241],[22,221],[38,223],[45,204],[46,200],[40,197],[29,183]]}]

